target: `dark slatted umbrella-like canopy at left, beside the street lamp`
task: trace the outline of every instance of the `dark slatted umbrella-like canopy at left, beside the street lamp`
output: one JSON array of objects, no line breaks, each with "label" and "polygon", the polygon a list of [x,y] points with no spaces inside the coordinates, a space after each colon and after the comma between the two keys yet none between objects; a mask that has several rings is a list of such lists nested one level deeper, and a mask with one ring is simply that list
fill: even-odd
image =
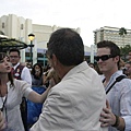
[{"label": "dark slatted umbrella-like canopy at left, beside the street lamp", "polygon": [[0,51],[5,52],[11,48],[17,48],[20,50],[27,47],[28,45],[21,40],[17,40],[15,38],[9,38],[8,36],[4,36],[4,35],[0,35]]}]

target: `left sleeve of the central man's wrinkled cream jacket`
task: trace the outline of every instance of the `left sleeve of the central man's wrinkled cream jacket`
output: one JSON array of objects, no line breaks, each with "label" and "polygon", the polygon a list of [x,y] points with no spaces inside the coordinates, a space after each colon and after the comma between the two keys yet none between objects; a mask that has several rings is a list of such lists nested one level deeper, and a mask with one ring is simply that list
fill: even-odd
[{"label": "left sleeve of the central man's wrinkled cream jacket", "polygon": [[[72,122],[67,123],[67,121],[71,121],[70,119],[72,119],[72,117],[70,117],[71,108],[66,108],[70,107],[71,105],[69,100],[66,99],[67,98],[64,95],[61,96],[57,92],[51,93],[44,104],[44,108],[38,121],[31,128],[29,131],[61,131],[61,123],[63,123],[63,129],[67,128],[66,124],[68,124],[68,127],[71,127],[73,124]],[[66,114],[66,110],[63,108],[69,110],[69,114]]]}]

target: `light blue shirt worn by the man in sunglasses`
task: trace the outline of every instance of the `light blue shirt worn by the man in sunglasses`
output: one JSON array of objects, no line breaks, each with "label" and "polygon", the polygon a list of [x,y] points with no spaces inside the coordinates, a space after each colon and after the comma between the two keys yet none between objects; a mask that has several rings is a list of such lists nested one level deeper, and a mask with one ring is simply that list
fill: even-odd
[{"label": "light blue shirt worn by the man in sunglasses", "polygon": [[[109,86],[116,81],[116,78],[121,74],[121,71],[114,73],[105,90],[107,91]],[[112,112],[124,119],[124,131],[131,131],[131,80],[122,79],[120,82],[117,82],[108,92],[107,99]],[[109,127],[109,131],[117,131],[117,129]]]}]

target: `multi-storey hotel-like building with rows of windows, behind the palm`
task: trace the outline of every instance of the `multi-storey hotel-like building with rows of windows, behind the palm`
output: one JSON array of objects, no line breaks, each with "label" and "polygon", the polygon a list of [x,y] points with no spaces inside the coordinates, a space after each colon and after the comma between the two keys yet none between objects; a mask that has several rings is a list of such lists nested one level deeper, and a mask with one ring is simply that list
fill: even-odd
[{"label": "multi-storey hotel-like building with rows of windows, behind the palm", "polygon": [[118,27],[104,26],[94,31],[94,44],[96,45],[100,40],[111,40],[119,47],[131,45],[131,29],[127,29],[127,35],[120,36]]}]

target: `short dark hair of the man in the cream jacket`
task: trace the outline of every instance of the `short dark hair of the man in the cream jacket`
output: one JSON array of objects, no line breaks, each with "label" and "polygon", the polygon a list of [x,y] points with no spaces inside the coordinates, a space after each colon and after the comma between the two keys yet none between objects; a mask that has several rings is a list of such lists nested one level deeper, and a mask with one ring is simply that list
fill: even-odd
[{"label": "short dark hair of the man in the cream jacket", "polygon": [[81,36],[71,28],[53,32],[47,44],[49,57],[56,55],[63,66],[78,66],[84,60],[84,45]]}]

